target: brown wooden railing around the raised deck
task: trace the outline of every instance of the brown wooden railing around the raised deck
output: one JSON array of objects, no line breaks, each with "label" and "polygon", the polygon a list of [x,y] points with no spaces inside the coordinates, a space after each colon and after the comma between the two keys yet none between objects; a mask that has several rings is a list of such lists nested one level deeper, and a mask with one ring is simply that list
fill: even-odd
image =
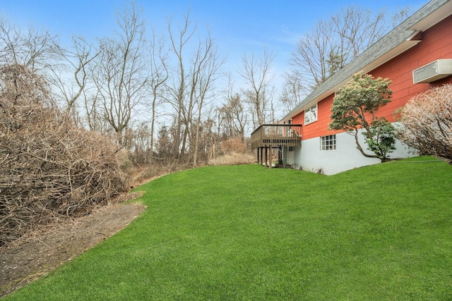
[{"label": "brown wooden railing around the raised deck", "polygon": [[251,149],[299,146],[302,143],[301,124],[263,124],[251,133]]}]

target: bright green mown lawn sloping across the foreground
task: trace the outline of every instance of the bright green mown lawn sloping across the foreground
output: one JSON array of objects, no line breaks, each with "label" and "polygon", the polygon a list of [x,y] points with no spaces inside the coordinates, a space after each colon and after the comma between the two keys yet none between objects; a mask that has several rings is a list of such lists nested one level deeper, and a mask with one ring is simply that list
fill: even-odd
[{"label": "bright green mown lawn sloping across the foreground", "polygon": [[451,300],[452,166],[405,162],[164,176],[131,225],[6,300]]}]

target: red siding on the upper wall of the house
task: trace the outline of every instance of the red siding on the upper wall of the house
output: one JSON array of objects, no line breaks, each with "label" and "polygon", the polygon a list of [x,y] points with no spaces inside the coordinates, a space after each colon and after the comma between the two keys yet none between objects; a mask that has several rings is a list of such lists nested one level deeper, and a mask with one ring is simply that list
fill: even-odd
[{"label": "red siding on the upper wall of the house", "polygon": [[[448,76],[432,83],[413,84],[412,70],[431,63],[436,59],[452,59],[452,16],[423,32],[422,42],[415,47],[408,49],[403,54],[369,72],[374,78],[389,78],[393,81],[390,85],[393,91],[392,101],[379,109],[376,115],[385,117],[391,122],[396,121],[393,116],[394,111],[405,105],[408,99],[415,94],[424,92],[431,87],[452,83],[452,76]],[[337,131],[328,130],[333,97],[334,94],[331,94],[317,104],[318,120],[303,126],[303,140],[338,133]],[[295,116],[292,123],[304,124],[304,112]]]}]

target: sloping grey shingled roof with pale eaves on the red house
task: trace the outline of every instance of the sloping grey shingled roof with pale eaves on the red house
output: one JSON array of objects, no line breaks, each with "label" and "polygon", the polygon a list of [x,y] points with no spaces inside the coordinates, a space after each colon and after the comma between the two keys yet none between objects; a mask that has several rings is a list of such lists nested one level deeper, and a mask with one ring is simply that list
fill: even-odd
[{"label": "sloping grey shingled roof with pale eaves on the red house", "polygon": [[281,120],[285,122],[304,111],[308,106],[319,102],[343,87],[355,73],[368,73],[383,63],[393,59],[399,54],[415,46],[420,39],[417,34],[432,27],[452,14],[452,0],[433,0],[420,8],[419,11],[400,23],[396,28],[388,32],[379,41],[359,54],[357,58],[348,63],[344,68],[322,82],[295,109],[287,113]]}]

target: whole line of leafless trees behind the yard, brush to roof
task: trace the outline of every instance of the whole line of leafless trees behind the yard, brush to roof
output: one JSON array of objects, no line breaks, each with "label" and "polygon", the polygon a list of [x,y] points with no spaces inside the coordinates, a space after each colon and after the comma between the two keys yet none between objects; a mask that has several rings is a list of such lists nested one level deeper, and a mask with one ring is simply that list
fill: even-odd
[{"label": "whole line of leafless trees behind the yard, brush to roof", "polygon": [[[192,23],[189,11],[182,22],[169,18],[163,33],[145,21],[143,8],[131,1],[117,10],[112,35],[74,36],[61,45],[47,30],[2,17],[0,65],[44,76],[61,111],[82,128],[114,137],[136,164],[196,166],[220,154],[222,140],[246,144],[246,134],[277,121],[282,106],[292,109],[389,29],[383,12],[353,7],[319,21],[299,39],[278,94],[275,54],[267,47],[244,54],[239,70],[227,71],[210,30]],[[237,78],[242,87],[234,87]]]}]

